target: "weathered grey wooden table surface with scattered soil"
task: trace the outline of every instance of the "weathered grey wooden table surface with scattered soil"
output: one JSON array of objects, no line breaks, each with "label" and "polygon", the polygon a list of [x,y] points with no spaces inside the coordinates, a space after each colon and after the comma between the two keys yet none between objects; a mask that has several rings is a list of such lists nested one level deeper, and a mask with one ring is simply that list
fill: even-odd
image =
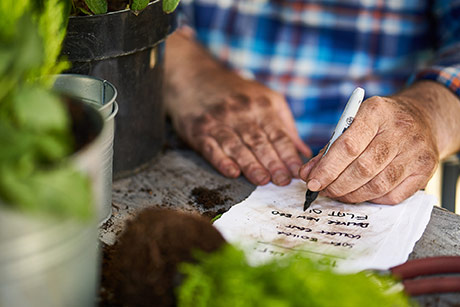
[{"label": "weathered grey wooden table surface with scattered soil", "polygon": [[[226,201],[210,209],[213,212],[197,204],[191,196],[196,187],[224,186],[220,193]],[[225,178],[193,151],[175,146],[159,154],[143,171],[114,182],[113,214],[101,227],[100,239],[113,244],[125,222],[143,208],[166,207],[210,214],[228,210],[254,189],[244,178]],[[460,215],[435,207],[410,258],[439,255],[460,255]],[[460,294],[424,295],[415,299],[422,306],[460,306]]]}]

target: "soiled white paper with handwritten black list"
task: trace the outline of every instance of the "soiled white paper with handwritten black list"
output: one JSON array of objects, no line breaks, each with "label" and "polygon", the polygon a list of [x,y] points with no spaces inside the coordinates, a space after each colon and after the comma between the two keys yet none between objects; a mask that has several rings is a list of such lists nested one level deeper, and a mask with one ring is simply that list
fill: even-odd
[{"label": "soiled white paper with handwritten black list", "polygon": [[301,180],[258,187],[214,226],[252,264],[295,250],[327,260],[339,272],[388,269],[407,260],[437,203],[422,191],[395,206],[318,197],[304,212],[305,191]]}]

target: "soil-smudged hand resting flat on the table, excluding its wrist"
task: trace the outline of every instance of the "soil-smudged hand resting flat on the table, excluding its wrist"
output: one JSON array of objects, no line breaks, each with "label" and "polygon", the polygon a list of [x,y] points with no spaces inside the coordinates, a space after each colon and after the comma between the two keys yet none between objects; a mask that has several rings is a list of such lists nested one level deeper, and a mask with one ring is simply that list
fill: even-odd
[{"label": "soil-smudged hand resting flat on the table, excluding its wrist", "polygon": [[259,83],[229,78],[223,95],[173,117],[179,134],[225,176],[288,184],[302,165],[297,149],[307,156],[311,151],[299,139],[285,99]]}]

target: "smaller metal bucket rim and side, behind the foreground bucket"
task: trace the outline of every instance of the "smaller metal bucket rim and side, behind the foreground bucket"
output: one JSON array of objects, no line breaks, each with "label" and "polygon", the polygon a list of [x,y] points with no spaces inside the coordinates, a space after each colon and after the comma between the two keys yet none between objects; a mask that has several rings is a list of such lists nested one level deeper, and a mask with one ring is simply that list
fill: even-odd
[{"label": "smaller metal bucket rim and side, behind the foreground bucket", "polygon": [[112,215],[112,174],[113,174],[113,140],[115,133],[115,116],[118,104],[115,99],[117,90],[110,82],[85,75],[58,75],[54,89],[83,100],[97,108],[105,120],[102,136],[102,180],[103,195],[98,209],[99,223],[104,223]]}]

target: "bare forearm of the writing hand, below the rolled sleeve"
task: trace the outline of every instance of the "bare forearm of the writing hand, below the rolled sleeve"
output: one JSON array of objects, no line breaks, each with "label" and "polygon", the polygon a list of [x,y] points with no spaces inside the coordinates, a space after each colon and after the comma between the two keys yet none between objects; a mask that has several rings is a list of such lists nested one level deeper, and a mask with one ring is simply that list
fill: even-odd
[{"label": "bare forearm of the writing hand, below the rolled sleeve", "polygon": [[427,119],[433,131],[439,158],[460,150],[460,99],[435,81],[418,81],[394,95],[408,98]]}]

